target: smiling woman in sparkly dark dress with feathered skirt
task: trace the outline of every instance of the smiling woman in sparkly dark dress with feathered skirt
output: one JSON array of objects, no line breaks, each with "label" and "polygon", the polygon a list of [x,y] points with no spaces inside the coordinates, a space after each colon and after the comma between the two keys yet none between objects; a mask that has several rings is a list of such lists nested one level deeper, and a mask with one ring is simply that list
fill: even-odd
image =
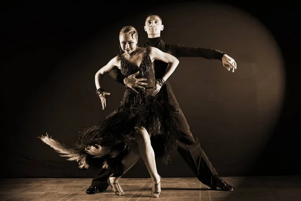
[{"label": "smiling woman in sparkly dark dress with feathered skirt", "polygon": [[[112,58],[95,74],[96,94],[100,97],[102,109],[106,107],[106,92],[102,88],[104,74],[117,67],[125,75],[138,73],[147,84],[144,90],[126,88],[123,99],[117,109],[99,125],[83,129],[73,149],[69,149],[47,136],[42,140],[59,153],[76,160],[80,167],[88,168],[98,160],[104,166],[113,166],[118,175],[119,165],[114,158],[130,151],[126,157],[136,160],[140,155],[152,177],[152,197],[161,193],[161,177],[157,172],[155,155],[164,162],[169,161],[169,151],[177,148],[179,132],[174,120],[174,108],[156,94],[165,81],[174,72],[179,60],[171,54],[155,47],[138,47],[138,34],[134,27],[125,26],[119,33],[120,49],[123,54]],[[164,76],[155,79],[153,61],[162,60],[170,63]],[[152,139],[152,141],[150,140]],[[128,161],[128,160],[124,160]],[[133,163],[130,163],[133,164]],[[122,173],[131,166],[122,164]],[[108,183],[115,194],[124,195],[118,183],[118,176],[111,176]]]}]

